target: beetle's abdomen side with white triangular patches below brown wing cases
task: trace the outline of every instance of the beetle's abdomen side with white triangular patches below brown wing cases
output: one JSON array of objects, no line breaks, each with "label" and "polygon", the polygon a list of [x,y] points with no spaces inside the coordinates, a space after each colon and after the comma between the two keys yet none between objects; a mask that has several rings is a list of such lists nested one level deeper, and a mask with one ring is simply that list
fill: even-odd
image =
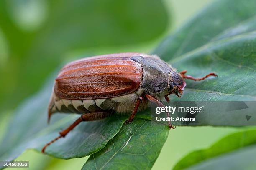
[{"label": "beetle's abdomen side with white triangular patches below brown wing cases", "polygon": [[[64,113],[89,113],[89,112],[117,112],[117,113],[130,113],[133,110],[134,104],[139,96],[143,93],[141,88],[128,95],[119,97],[105,98],[105,99],[85,99],[85,100],[69,100],[61,99],[53,93],[51,102],[48,107],[48,114],[55,112]],[[144,110],[146,104],[142,104],[139,110]]]}]

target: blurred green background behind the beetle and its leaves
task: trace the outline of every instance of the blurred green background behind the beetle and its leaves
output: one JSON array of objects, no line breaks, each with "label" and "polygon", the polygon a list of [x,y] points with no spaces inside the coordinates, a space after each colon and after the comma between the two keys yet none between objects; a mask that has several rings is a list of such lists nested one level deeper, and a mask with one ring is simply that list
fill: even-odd
[{"label": "blurred green background behind the beetle and its leaves", "polygon": [[[0,1],[0,140],[13,110],[61,65],[90,55],[149,53],[211,1]],[[190,151],[235,130],[172,130],[153,169],[171,169]],[[86,159],[59,160],[27,150],[16,160],[29,161],[29,169],[69,170],[80,169]]]}]

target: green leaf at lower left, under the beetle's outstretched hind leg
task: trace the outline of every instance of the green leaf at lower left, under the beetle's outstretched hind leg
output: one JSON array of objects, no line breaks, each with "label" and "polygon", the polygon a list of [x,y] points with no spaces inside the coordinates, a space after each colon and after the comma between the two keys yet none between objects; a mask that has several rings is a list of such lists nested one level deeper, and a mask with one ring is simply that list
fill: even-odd
[{"label": "green leaf at lower left, under the beetle's outstretched hind leg", "polygon": [[[59,131],[67,128],[79,117],[56,114],[52,116],[50,125],[46,125],[50,93],[51,86],[48,85],[17,109],[1,142],[0,160],[12,161],[29,148],[41,152],[46,143],[59,135]],[[113,115],[100,121],[82,122],[72,133],[46,148],[46,153],[63,159],[95,153],[118,133],[126,119],[127,116]],[[0,168],[3,168],[2,165]]]}]

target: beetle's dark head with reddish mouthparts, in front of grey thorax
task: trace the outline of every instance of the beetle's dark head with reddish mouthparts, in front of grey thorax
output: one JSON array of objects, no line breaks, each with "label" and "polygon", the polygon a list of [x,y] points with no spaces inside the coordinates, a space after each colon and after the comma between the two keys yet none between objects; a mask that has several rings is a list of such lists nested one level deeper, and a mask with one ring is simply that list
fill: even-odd
[{"label": "beetle's dark head with reddish mouthparts, in front of grey thorax", "polygon": [[182,92],[184,90],[184,87],[186,86],[186,82],[184,78],[179,75],[176,71],[172,70],[169,74],[169,80],[168,80],[168,91],[169,93],[165,95],[165,99],[169,101],[168,95],[174,93],[178,97],[182,95]]}]

